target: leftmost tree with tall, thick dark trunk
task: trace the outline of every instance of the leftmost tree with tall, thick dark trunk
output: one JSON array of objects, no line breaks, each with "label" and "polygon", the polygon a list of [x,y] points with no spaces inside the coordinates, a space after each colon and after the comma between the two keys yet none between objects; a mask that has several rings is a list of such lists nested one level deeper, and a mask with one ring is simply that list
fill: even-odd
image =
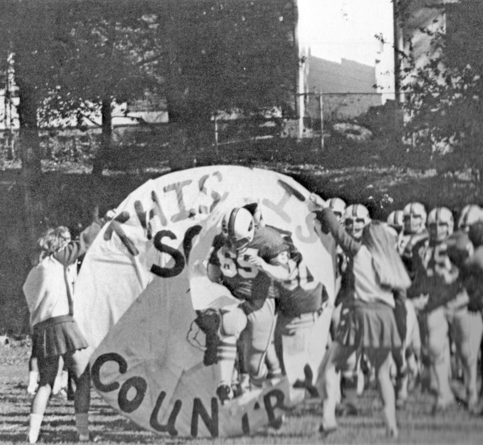
[{"label": "leftmost tree with tall, thick dark trunk", "polygon": [[56,29],[66,14],[59,1],[36,2],[9,0],[3,2],[0,15],[0,57],[6,61],[13,54],[15,83],[20,97],[19,147],[22,161],[23,221],[25,227],[22,259],[31,267],[38,237],[39,221],[43,219],[41,189],[42,153],[38,134],[38,107],[51,87],[53,75],[52,49],[60,43]]}]

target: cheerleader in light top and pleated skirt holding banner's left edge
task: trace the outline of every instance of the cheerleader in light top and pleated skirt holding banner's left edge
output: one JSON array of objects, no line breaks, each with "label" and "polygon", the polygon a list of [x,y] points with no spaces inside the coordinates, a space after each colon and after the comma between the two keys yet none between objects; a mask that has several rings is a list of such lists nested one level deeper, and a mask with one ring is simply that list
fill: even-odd
[{"label": "cheerleader in light top and pleated skirt holding banner's left edge", "polygon": [[27,276],[24,294],[32,325],[32,356],[37,359],[40,382],[32,401],[28,442],[35,443],[54,387],[59,360],[63,358],[77,378],[74,399],[78,439],[89,440],[88,411],[91,395],[88,343],[73,315],[73,283],[69,279],[75,262],[94,241],[101,226],[93,222],[80,241],[68,243],[63,232],[49,229],[38,241],[40,262]]}]

